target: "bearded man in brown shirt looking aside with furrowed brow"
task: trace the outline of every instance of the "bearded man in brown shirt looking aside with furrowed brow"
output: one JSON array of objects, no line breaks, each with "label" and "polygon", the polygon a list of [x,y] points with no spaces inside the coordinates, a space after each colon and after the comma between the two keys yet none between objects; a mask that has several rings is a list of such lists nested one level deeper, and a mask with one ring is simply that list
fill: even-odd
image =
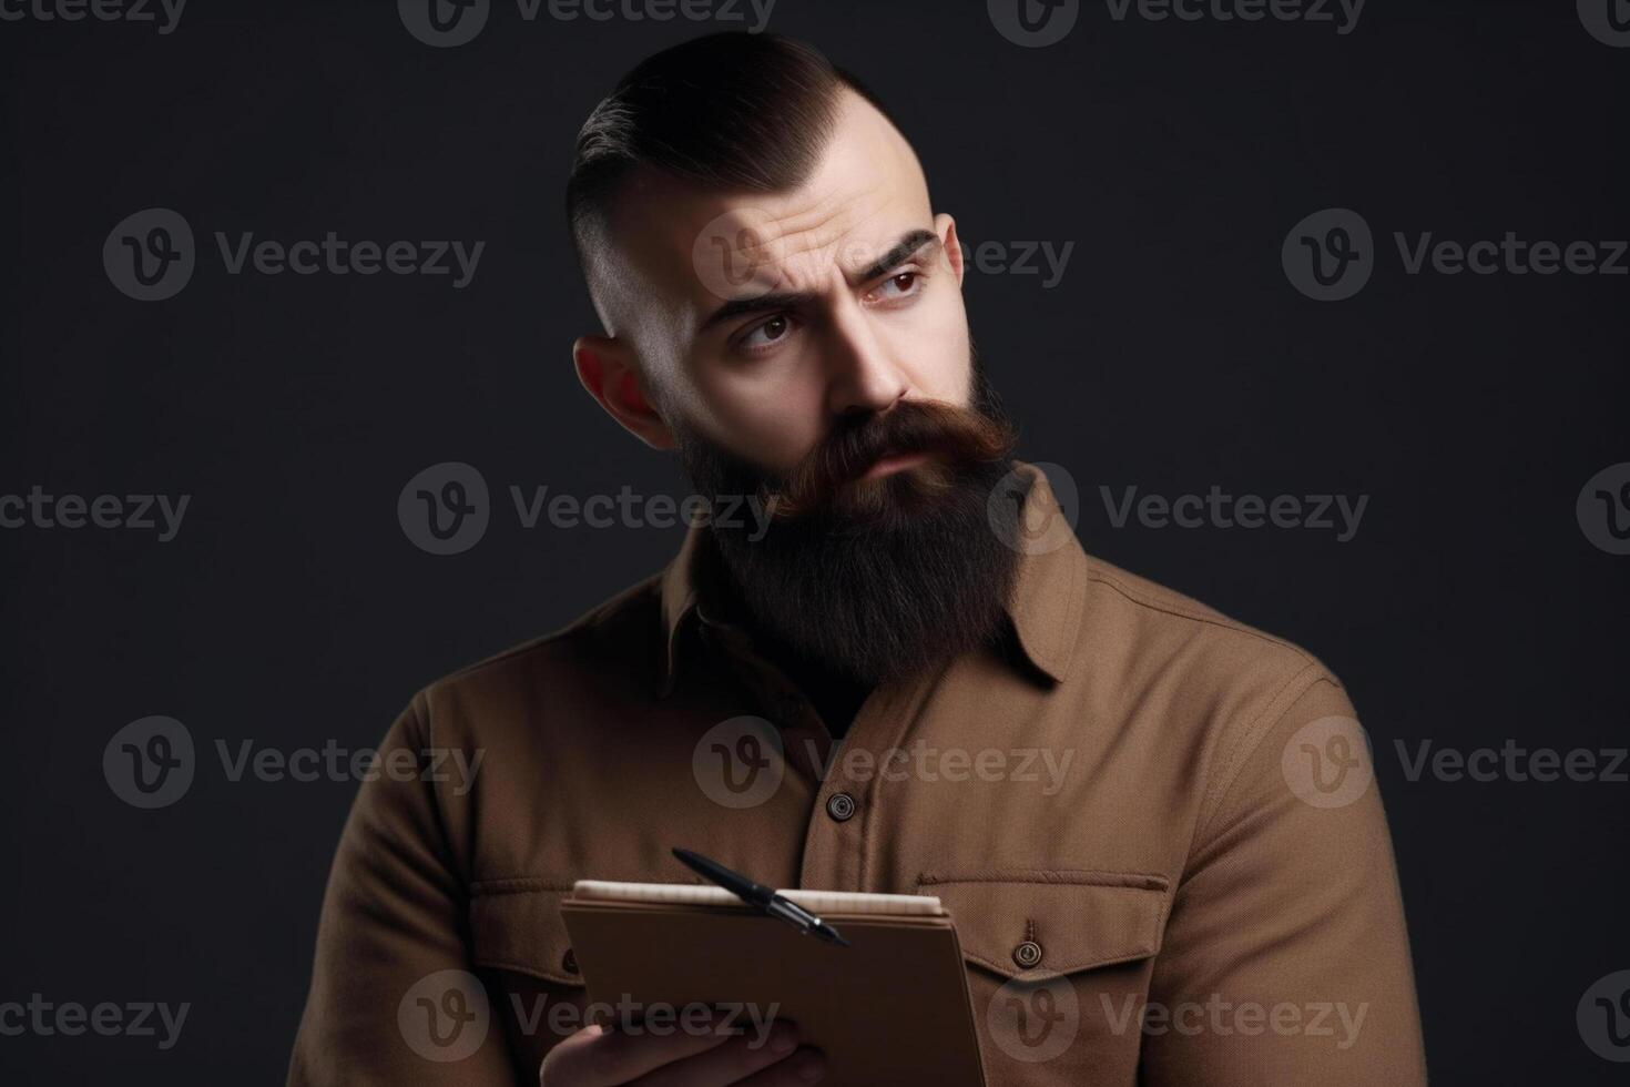
[{"label": "bearded man in brown shirt looking aside with furrowed brow", "polygon": [[877,98],[792,41],[686,42],[588,117],[567,210],[603,324],[577,375],[712,517],[398,719],[383,758],[481,774],[362,787],[290,1082],[818,1082],[797,1023],[574,1019],[561,898],[688,882],[689,844],[773,887],[937,895],[993,1087],[1423,1084],[1341,684],[1084,554],[1012,460],[957,223]]}]

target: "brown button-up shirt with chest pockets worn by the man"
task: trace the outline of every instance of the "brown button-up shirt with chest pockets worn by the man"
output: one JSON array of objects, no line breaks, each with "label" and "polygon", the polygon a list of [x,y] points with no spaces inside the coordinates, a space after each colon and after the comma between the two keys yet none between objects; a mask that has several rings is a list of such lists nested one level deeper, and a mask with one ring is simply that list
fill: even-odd
[{"label": "brown button-up shirt with chest pockets worn by the man", "polygon": [[[1035,476],[1027,525],[1058,515]],[[879,688],[833,743],[698,608],[699,531],[396,720],[386,758],[425,772],[357,797],[290,1084],[535,1082],[584,1022],[561,896],[694,882],[675,844],[937,895],[991,1087],[1425,1082],[1381,799],[1324,665],[1064,533],[1025,548],[1006,644]]]}]

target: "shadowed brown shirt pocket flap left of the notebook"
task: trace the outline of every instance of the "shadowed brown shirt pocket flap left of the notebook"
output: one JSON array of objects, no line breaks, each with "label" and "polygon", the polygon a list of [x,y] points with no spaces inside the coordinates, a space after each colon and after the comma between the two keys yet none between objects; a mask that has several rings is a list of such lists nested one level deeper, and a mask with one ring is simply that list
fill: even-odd
[{"label": "shadowed brown shirt pocket flap left of the notebook", "polygon": [[473,885],[471,962],[557,984],[584,984],[570,935],[561,921],[561,900],[567,895],[569,887],[536,880],[487,880]]}]

